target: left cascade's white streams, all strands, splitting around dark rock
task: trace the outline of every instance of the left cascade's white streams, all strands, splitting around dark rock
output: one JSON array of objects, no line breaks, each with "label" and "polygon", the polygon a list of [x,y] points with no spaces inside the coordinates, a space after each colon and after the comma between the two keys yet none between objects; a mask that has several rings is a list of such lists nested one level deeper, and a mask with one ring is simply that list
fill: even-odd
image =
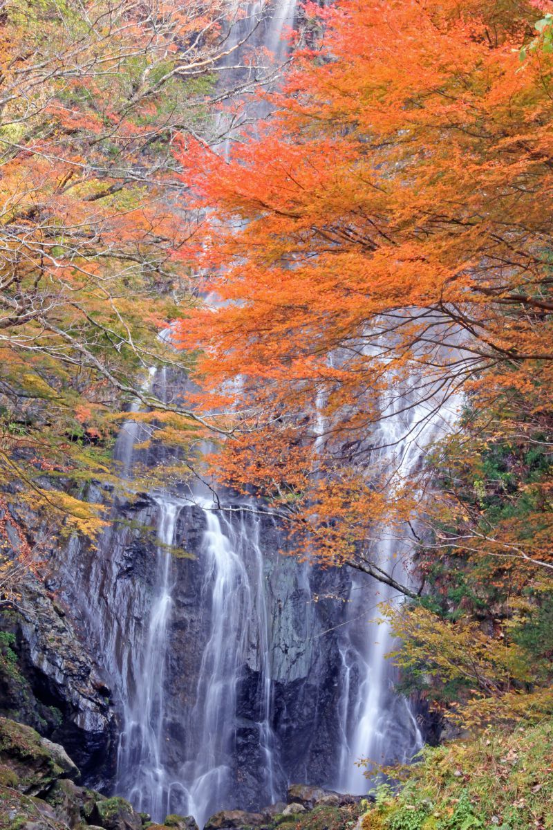
[{"label": "left cascade's white streams, all strands, splitting around dark rock", "polygon": [[[166,369],[150,371],[148,388],[154,383],[165,398]],[[138,403],[133,403],[131,413],[138,408]],[[133,470],[137,459],[134,445],[143,440],[146,428],[129,418],[119,432],[114,455],[125,477]],[[208,451],[208,447],[204,449]],[[228,515],[225,510],[216,512],[206,486],[185,489],[186,494],[178,496],[158,491],[148,494],[157,513],[158,540],[155,560],[149,566],[154,579],[146,598],[148,611],[142,610],[138,629],[131,628],[131,642],[125,642],[119,626],[111,635],[100,626],[99,640],[114,658],[111,672],[119,678],[122,703],[116,792],[154,820],[161,822],[168,813],[180,812],[194,815],[203,826],[206,818],[226,807],[232,798],[236,699],[248,664],[259,676],[255,724],[264,759],[260,793],[267,803],[278,794],[271,727],[269,611],[260,520],[255,511],[250,505],[239,505]],[[200,617],[205,618],[206,642],[195,700],[182,712],[186,723],[182,759],[173,769],[167,759],[171,723],[165,672],[175,588],[171,548],[176,542],[179,515],[191,505],[200,508],[205,523],[198,552],[201,590],[196,602]],[[104,535],[100,546],[106,557],[110,538],[109,533]],[[116,583],[119,574],[112,569],[110,576]],[[136,610],[127,608],[126,613],[135,617]]]}]

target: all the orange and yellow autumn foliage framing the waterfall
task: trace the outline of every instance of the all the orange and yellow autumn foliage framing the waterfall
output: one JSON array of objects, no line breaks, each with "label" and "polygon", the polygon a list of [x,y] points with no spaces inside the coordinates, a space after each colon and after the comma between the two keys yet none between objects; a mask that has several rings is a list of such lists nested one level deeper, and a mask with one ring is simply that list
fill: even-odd
[{"label": "all the orange and yellow autumn foliage framing the waterfall", "polygon": [[225,154],[243,5],[2,4],[5,489],[94,534],[134,399],[172,474],[223,436],[290,549],[412,600],[406,686],[551,710],[553,4],[308,2]]}]

